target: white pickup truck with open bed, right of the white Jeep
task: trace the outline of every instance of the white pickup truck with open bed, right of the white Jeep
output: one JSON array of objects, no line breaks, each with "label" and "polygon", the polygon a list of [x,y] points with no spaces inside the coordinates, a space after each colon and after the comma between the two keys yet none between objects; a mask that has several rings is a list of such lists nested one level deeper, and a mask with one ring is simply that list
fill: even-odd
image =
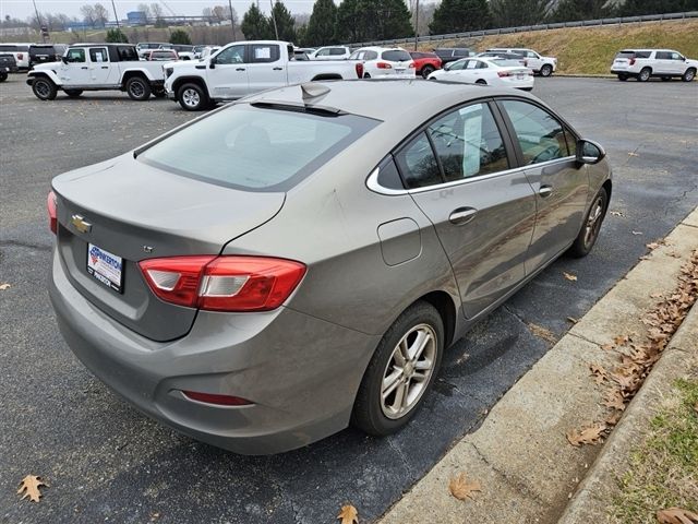
[{"label": "white pickup truck with open bed, right of the white Jeep", "polygon": [[201,60],[165,64],[165,91],[189,111],[251,93],[314,80],[359,79],[354,62],[297,61],[286,41],[228,44]]}]

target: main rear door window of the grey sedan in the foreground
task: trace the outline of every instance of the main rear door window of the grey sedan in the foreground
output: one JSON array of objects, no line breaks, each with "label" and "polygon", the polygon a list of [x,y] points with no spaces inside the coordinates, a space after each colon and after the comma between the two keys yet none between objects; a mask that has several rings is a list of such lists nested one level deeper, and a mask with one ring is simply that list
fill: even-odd
[{"label": "main rear door window of the grey sedan in the foreground", "polygon": [[447,182],[509,168],[502,134],[486,104],[440,118],[428,132]]}]

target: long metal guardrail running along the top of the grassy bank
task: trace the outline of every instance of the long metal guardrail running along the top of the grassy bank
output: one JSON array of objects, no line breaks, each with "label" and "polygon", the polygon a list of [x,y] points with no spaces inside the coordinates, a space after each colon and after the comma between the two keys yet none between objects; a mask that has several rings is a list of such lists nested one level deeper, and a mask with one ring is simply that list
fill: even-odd
[{"label": "long metal guardrail running along the top of the grassy bank", "polygon": [[[503,27],[497,29],[470,31],[467,33],[450,33],[447,35],[426,35],[426,36],[419,36],[417,38],[417,41],[419,44],[423,41],[456,40],[460,38],[476,38],[479,36],[507,35],[510,33],[525,33],[530,31],[562,29],[565,27],[600,27],[603,25],[637,24],[642,22],[660,22],[663,20],[681,20],[681,19],[698,19],[698,11],[688,11],[686,13],[643,14],[641,16],[616,16],[613,19],[583,20],[583,21],[577,21],[577,22],[558,22],[553,24],[524,25],[520,27]],[[347,45],[350,47],[366,47],[366,46],[386,46],[386,45],[413,44],[413,43],[414,43],[414,37],[395,38],[392,40],[362,41],[358,44],[347,44]]]}]

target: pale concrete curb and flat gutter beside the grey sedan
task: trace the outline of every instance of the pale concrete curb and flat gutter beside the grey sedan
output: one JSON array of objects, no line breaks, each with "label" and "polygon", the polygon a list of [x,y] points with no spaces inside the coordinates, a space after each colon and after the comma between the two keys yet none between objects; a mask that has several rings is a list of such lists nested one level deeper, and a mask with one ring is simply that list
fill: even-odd
[{"label": "pale concrete curb and flat gutter beside the grey sedan", "polygon": [[[698,331],[690,327],[698,326],[698,308],[684,321],[685,326],[658,364],[659,371],[650,377],[663,374],[652,379],[633,401],[634,407],[627,408],[629,415],[615,429],[623,431],[622,437],[611,438],[605,448],[574,448],[565,433],[607,417],[609,410],[601,404],[604,390],[594,384],[589,367],[598,364],[611,369],[617,357],[601,346],[617,335],[646,333],[640,320],[660,301],[652,296],[675,289],[682,265],[698,247],[698,207],[665,241],[618,281],[495,404],[482,426],[456,442],[378,522],[540,523],[557,522],[563,514],[565,524],[605,522],[605,514],[601,513],[605,507],[593,489],[602,469],[594,466],[592,477],[588,475],[589,466],[601,453],[624,458],[623,453],[614,451],[615,446],[624,439],[631,440],[628,436],[638,431],[636,427],[646,416],[635,406],[642,405],[649,392],[655,391],[653,382],[681,376],[686,369],[681,367],[685,361],[676,359],[689,354],[685,348],[698,347]],[[449,480],[460,473],[482,486],[482,491],[466,501],[455,499],[448,491]],[[588,480],[580,487],[582,478]],[[578,509],[571,514],[568,507],[575,492]],[[589,516],[582,513],[588,509],[599,512]]]}]

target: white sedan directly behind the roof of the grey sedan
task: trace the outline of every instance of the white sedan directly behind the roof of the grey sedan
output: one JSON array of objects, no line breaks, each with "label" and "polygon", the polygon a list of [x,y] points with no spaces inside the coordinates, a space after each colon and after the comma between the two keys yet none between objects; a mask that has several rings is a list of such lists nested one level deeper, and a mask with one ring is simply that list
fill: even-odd
[{"label": "white sedan directly behind the roof of the grey sedan", "polygon": [[434,71],[429,80],[462,82],[464,84],[496,85],[531,91],[533,72],[515,60],[498,58],[464,58]]}]

